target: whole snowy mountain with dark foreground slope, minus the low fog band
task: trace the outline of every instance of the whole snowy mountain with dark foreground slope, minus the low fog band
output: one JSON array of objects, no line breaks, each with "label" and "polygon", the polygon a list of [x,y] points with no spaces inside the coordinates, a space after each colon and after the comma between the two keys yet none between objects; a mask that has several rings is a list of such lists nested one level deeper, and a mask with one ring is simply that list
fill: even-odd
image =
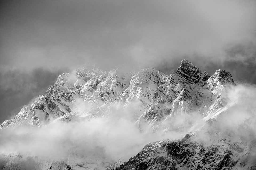
[{"label": "whole snowy mountain with dark foreground slope, minus the low fog band", "polygon": [[[229,72],[219,69],[209,76],[186,59],[171,75],[154,68],[124,72],[120,68],[102,71],[95,67],[83,67],[63,73],[45,95],[38,96],[31,106],[24,106],[13,119],[4,121],[0,125],[2,131],[17,130],[19,127],[46,127],[51,130],[58,124],[61,124],[58,128],[65,129],[70,124],[91,124],[94,120],[103,119],[103,122],[110,122],[103,123],[105,130],[109,124],[129,121],[139,134],[159,134],[169,139],[158,137],[156,140],[160,141],[147,141],[148,144],[137,155],[127,160],[113,160],[102,153],[106,148],[98,146],[95,147],[97,149],[79,152],[78,145],[78,150],[72,149],[68,156],[57,160],[19,152],[3,153],[0,167],[69,170],[256,169],[256,138],[253,126],[250,126],[256,123],[255,115],[247,109],[245,118],[239,117],[241,114],[237,111],[247,106],[248,102],[232,97],[230,89],[236,87]],[[125,121],[121,121],[123,119]],[[120,133],[128,134],[121,129]],[[248,135],[248,131],[252,131],[253,135]],[[107,136],[111,136],[109,133]],[[173,139],[174,134],[181,136]],[[127,135],[128,138],[131,135]],[[136,140],[132,142],[136,144]],[[123,155],[128,154],[125,152]],[[27,162],[31,167],[27,167]]]}]

